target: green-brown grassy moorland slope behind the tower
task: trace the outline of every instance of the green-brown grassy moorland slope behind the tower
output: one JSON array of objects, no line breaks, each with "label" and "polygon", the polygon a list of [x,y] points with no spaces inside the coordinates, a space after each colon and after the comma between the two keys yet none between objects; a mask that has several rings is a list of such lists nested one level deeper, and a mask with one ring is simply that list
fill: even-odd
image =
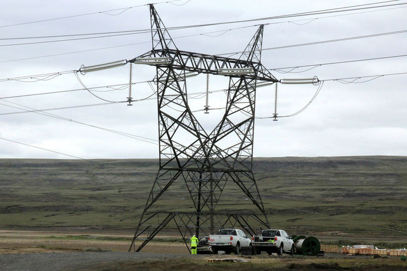
[{"label": "green-brown grassy moorland slope behind the tower", "polygon": [[[0,227],[133,228],[157,170],[158,160],[1,159]],[[396,232],[407,232],[407,157],[255,158],[253,170],[272,227],[407,242]],[[153,210],[193,211],[185,183]],[[256,211],[233,182],[216,210]]]}]

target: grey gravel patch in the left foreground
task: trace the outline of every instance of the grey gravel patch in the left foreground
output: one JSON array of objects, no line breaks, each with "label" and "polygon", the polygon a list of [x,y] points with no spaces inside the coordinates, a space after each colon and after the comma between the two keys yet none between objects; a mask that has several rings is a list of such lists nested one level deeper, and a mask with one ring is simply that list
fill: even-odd
[{"label": "grey gravel patch in the left foreground", "polygon": [[72,252],[72,253],[27,253],[0,255],[0,270],[54,271],[92,269],[95,264],[169,260],[175,258],[201,257],[190,254],[161,254],[146,252]]}]

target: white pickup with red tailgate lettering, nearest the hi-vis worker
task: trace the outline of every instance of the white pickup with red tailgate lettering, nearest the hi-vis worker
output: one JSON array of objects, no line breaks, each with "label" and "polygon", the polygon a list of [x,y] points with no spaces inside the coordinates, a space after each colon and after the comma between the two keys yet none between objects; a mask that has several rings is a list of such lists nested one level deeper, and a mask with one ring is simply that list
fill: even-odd
[{"label": "white pickup with red tailgate lettering, nearest the hi-vis worker", "polygon": [[209,236],[208,245],[214,254],[218,254],[219,250],[225,251],[225,254],[232,251],[239,254],[240,248],[252,245],[252,241],[241,229],[219,229],[218,234]]}]

